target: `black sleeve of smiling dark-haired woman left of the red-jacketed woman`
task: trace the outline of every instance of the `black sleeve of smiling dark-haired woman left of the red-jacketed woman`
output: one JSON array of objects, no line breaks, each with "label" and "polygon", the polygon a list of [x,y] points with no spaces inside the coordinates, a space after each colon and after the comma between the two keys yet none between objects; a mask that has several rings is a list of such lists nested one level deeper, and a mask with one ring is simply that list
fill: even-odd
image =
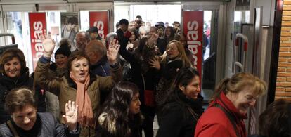
[{"label": "black sleeve of smiling dark-haired woman left of the red-jacketed woman", "polygon": [[176,137],[183,127],[183,113],[178,106],[169,107],[168,110],[162,112],[159,121],[159,130],[157,131],[157,137]]}]

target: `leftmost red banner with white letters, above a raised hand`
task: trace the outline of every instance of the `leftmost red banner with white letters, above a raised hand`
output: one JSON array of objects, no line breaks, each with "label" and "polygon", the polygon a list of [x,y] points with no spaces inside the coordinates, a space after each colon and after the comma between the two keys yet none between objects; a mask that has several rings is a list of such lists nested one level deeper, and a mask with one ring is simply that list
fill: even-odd
[{"label": "leftmost red banner with white letters, above a raised hand", "polygon": [[42,56],[44,47],[41,42],[41,34],[46,30],[46,13],[29,13],[30,39],[32,44],[33,68],[37,66],[37,61]]}]

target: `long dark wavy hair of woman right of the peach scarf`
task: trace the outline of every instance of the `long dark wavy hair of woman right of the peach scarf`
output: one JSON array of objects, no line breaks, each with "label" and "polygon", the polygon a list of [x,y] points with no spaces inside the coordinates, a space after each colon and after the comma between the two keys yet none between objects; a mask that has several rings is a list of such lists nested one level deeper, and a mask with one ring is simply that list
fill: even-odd
[{"label": "long dark wavy hair of woman right of the peach scarf", "polygon": [[[106,98],[103,107],[101,107],[98,117],[99,124],[115,136],[129,136],[131,134],[129,120],[132,116],[129,112],[129,107],[132,98],[138,91],[138,86],[131,82],[122,81],[115,85],[108,98]],[[103,114],[107,116],[101,122],[100,119]],[[141,119],[140,113],[137,116],[135,118]],[[115,126],[113,131],[112,124]]]}]

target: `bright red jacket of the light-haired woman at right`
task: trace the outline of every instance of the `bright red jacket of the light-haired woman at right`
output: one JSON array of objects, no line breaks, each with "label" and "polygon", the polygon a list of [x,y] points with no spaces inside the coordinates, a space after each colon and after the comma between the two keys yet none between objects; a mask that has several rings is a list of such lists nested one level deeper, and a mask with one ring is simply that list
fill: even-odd
[{"label": "bright red jacket of the light-haired woman at right", "polygon": [[230,119],[228,119],[228,116],[219,107],[213,106],[216,103],[235,116],[235,123],[240,136],[246,137],[247,133],[243,119],[247,119],[247,115],[241,114],[233,103],[231,103],[231,100],[224,95],[224,92],[221,92],[220,99],[216,98],[198,120],[195,129],[195,137],[236,137],[235,129],[233,128]]}]

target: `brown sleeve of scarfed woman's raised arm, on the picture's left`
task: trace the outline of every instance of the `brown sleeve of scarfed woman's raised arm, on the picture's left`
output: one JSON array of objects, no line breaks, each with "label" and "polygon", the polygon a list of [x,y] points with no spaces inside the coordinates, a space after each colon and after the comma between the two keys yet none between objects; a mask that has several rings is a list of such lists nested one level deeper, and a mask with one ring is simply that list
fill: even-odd
[{"label": "brown sleeve of scarfed woman's raised arm, on the picture's left", "polygon": [[60,91],[60,79],[50,77],[48,73],[49,65],[49,62],[46,62],[44,57],[39,58],[34,72],[34,80],[39,84],[39,86],[41,86],[41,88],[58,96]]}]

